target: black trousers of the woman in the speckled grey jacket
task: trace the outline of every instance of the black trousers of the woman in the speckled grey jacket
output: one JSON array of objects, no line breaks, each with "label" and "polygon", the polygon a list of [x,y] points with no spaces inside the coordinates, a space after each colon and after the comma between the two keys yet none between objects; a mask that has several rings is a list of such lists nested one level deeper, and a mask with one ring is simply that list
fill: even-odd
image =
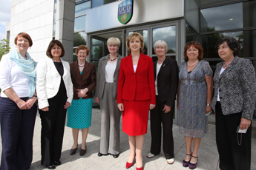
[{"label": "black trousers of the woman in the speckled grey jacket", "polygon": [[216,143],[220,154],[221,170],[249,170],[251,169],[251,140],[252,125],[246,134],[238,134],[242,113],[223,115],[220,102],[216,103]]}]

